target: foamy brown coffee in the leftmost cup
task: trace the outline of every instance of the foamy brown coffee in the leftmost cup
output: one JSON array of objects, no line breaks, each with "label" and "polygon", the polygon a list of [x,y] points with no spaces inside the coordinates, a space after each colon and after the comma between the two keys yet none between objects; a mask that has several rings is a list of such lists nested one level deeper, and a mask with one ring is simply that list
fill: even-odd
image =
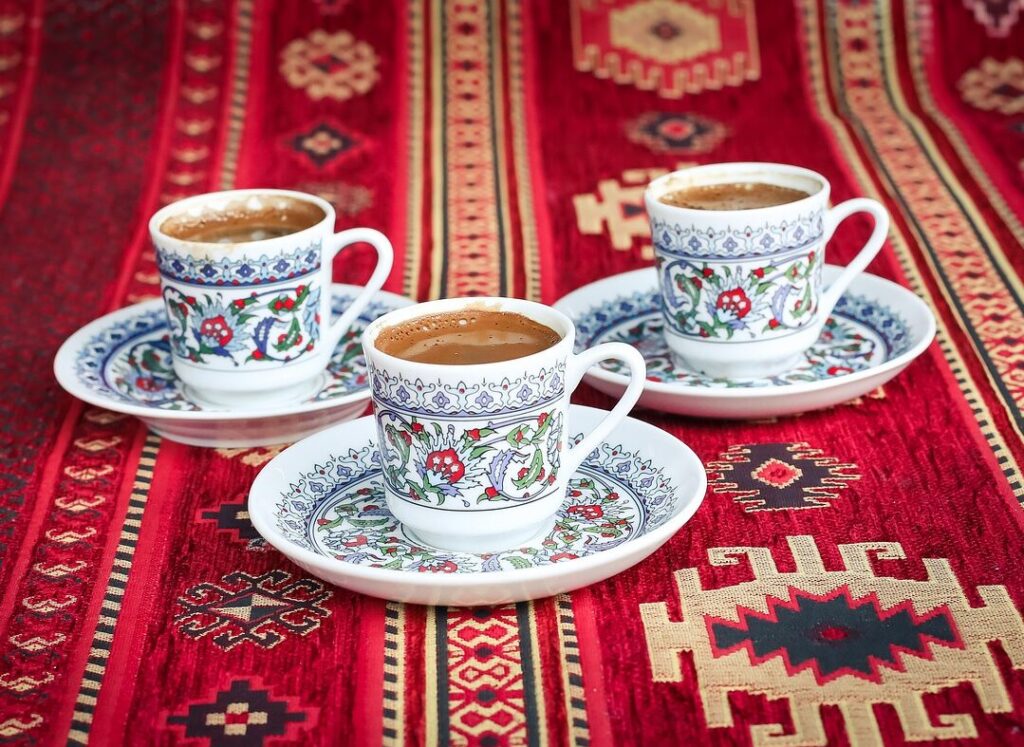
[{"label": "foamy brown coffee in the leftmost cup", "polygon": [[182,241],[240,244],[296,234],[311,229],[324,217],[324,211],[312,203],[274,196],[199,215],[174,215],[161,223],[160,231]]}]

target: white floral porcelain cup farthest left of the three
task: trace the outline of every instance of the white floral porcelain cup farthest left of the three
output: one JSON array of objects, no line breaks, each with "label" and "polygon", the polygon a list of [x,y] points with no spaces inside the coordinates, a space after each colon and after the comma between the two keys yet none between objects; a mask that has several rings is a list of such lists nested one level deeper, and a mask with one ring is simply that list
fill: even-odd
[{"label": "white floral porcelain cup farthest left of the three", "polygon": [[[315,222],[286,236],[240,243],[185,241],[182,221],[298,207]],[[171,221],[171,222],[168,222]],[[150,220],[169,324],[174,372],[207,407],[299,402],[321,384],[335,346],[391,272],[391,243],[373,229],[334,233],[326,200],[286,190],[236,190],[172,203]],[[168,229],[170,230],[170,229]],[[362,291],[331,319],[331,262],[360,242],[377,250]]]}]

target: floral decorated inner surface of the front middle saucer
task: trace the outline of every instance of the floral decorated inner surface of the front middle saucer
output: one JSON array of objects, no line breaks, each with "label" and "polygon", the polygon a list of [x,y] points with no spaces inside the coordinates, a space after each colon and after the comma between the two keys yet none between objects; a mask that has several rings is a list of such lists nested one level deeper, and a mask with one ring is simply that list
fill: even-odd
[{"label": "floral decorated inner surface of the front middle saucer", "polygon": [[[579,443],[583,434],[573,439]],[[571,562],[647,534],[677,509],[676,486],[639,452],[603,444],[566,488],[542,541],[498,553],[424,547],[387,509],[376,445],[332,456],[296,475],[274,508],[291,542],[353,565],[418,573],[487,573]]]}]

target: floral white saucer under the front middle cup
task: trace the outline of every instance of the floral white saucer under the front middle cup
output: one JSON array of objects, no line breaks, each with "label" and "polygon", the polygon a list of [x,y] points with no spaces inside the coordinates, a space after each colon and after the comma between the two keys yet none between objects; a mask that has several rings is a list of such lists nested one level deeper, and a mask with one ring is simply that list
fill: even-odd
[{"label": "floral white saucer under the front middle cup", "polygon": [[[573,441],[606,414],[570,406]],[[398,601],[497,605],[601,581],[668,541],[708,486],[689,447],[627,418],[572,475],[547,536],[490,554],[439,550],[413,539],[388,511],[376,441],[374,418],[365,417],[286,449],[253,483],[249,515],[312,575]]]}]

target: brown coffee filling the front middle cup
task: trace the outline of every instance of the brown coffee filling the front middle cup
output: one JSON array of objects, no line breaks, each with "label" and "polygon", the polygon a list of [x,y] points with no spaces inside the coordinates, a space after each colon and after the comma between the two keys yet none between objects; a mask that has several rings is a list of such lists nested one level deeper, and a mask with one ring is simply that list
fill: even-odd
[{"label": "brown coffee filling the front middle cup", "polygon": [[560,339],[550,327],[521,314],[470,308],[385,327],[375,344],[404,361],[466,366],[522,358]]}]

